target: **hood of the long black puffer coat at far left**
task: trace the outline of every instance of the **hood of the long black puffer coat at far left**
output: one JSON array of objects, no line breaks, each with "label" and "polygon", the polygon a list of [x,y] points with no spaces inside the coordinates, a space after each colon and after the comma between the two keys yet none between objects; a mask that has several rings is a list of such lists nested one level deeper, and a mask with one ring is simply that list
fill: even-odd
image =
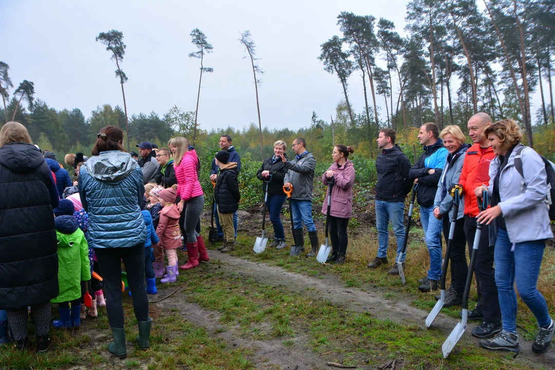
[{"label": "hood of the long black puffer coat at far left", "polygon": [[0,165],[16,173],[29,173],[44,163],[40,150],[33,144],[8,143],[0,148]]}]

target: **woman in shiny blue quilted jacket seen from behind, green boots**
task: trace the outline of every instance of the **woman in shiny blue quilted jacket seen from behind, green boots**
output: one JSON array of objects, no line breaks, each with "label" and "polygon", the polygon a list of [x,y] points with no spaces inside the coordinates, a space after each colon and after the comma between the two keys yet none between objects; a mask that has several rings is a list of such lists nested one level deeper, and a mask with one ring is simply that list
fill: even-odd
[{"label": "woman in shiny blue quilted jacket seen from behind, green boots", "polygon": [[139,322],[137,341],[149,347],[152,318],[148,317],[144,284],[144,241],[147,227],[140,212],[144,184],[137,162],[123,150],[123,131],[104,126],[92,154],[79,171],[79,193],[89,214],[89,236],[104,279],[106,310],[114,341],[108,351],[127,357],[122,306],[121,261],[133,292],[133,308]]}]

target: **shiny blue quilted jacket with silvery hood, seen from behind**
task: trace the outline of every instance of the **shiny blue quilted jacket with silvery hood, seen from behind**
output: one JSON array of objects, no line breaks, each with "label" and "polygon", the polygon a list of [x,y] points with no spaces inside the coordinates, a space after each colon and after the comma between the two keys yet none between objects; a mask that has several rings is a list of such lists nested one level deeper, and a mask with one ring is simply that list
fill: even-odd
[{"label": "shiny blue quilted jacket with silvery hood, seen from behind", "polygon": [[143,174],[129,153],[111,150],[92,156],[81,166],[78,187],[95,248],[133,247],[147,240],[140,212]]}]

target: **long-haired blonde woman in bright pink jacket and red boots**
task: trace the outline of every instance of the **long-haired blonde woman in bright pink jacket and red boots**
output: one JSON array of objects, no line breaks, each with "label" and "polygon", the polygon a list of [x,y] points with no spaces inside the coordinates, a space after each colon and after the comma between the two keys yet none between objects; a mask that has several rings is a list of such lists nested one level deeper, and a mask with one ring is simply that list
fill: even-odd
[{"label": "long-haired blonde woman in bright pink jacket and red boots", "polygon": [[177,207],[183,219],[183,235],[186,241],[189,261],[180,266],[181,270],[189,270],[199,265],[199,262],[209,261],[203,237],[196,232],[195,227],[204,207],[204,192],[200,186],[198,171],[200,161],[194,149],[189,148],[189,140],[178,136],[173,139],[174,169],[177,178],[180,201]]}]

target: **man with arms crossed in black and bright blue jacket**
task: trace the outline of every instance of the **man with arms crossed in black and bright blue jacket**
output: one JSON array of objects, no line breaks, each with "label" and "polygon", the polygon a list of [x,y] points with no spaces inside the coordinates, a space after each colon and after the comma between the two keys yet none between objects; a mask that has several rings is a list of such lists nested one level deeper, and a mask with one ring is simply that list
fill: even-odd
[{"label": "man with arms crossed in black and bright blue jacket", "polygon": [[418,281],[420,283],[418,289],[422,292],[438,290],[441,278],[442,221],[433,215],[433,201],[447,158],[447,149],[439,136],[440,130],[435,123],[428,122],[422,125],[418,132],[418,140],[420,145],[424,146],[424,153],[408,171],[408,178],[418,184],[416,196],[420,205],[420,221],[424,229],[428,254],[430,254],[428,275]]}]

